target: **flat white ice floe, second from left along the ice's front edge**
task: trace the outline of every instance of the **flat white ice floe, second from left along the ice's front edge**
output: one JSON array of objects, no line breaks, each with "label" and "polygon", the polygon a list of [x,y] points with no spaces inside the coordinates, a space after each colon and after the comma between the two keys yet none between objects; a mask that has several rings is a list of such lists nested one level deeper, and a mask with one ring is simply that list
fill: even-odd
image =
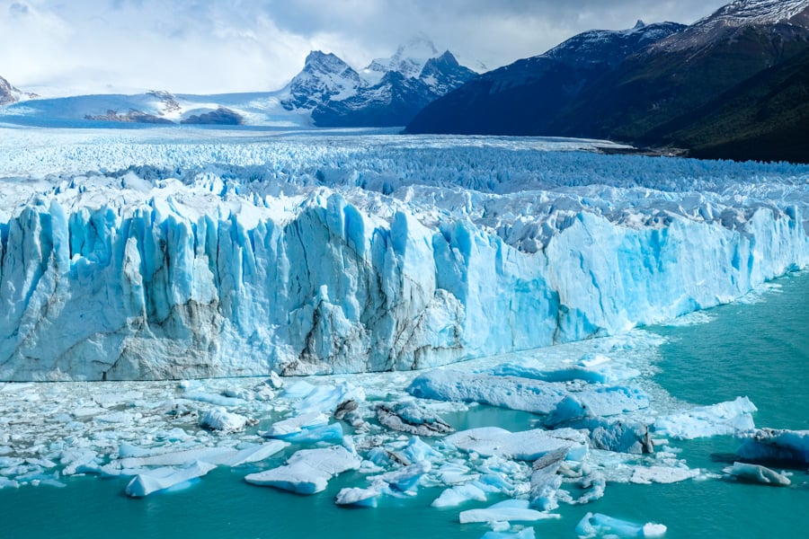
[{"label": "flat white ice floe, second from left along the ice's front edge", "polygon": [[244,481],[298,494],[315,494],[325,490],[333,476],[356,470],[360,464],[360,459],[343,446],[301,449],[289,457],[287,464],[266,472],[251,473]]}]

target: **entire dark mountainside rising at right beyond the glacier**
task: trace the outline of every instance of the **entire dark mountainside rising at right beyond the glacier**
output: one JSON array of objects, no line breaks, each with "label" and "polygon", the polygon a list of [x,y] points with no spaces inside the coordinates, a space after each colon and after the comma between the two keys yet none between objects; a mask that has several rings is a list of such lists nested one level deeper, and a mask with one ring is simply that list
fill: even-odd
[{"label": "entire dark mountainside rising at right beyond the glacier", "polygon": [[[689,27],[656,26],[584,32],[540,57],[481,75],[431,103],[407,131],[610,138],[680,146],[693,155],[809,160],[809,146],[773,147],[787,131],[802,135],[800,128],[789,131],[791,119],[758,119],[768,114],[763,110],[805,103],[789,102],[802,90],[785,74],[803,65],[809,49],[809,0],[738,0]],[[633,32],[643,39],[630,40]],[[753,95],[763,101],[752,103]],[[734,109],[730,102],[746,104]],[[742,155],[727,132],[707,140],[720,125],[751,141],[745,146],[751,153]],[[769,141],[769,149],[753,141]]]}]

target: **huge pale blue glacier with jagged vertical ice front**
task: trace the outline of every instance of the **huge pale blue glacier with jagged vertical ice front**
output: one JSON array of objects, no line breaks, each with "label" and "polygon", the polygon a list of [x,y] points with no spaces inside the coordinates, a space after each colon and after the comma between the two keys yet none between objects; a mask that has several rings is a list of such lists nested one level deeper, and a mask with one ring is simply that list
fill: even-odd
[{"label": "huge pale blue glacier with jagged vertical ice front", "polygon": [[809,168],[609,143],[0,128],[0,380],[412,370],[809,263]]}]

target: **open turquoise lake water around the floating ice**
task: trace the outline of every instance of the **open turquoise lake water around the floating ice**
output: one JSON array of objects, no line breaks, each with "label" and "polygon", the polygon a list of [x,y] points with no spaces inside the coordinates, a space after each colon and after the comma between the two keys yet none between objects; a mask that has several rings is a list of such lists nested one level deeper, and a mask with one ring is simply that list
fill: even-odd
[{"label": "open turquoise lake water around the floating ice", "polygon": [[[698,404],[747,395],[761,427],[809,429],[809,275],[783,278],[759,302],[725,305],[698,325],[652,328],[668,339],[656,365],[675,398]],[[473,408],[447,416],[458,429],[500,425],[528,429],[527,413]],[[720,473],[737,442],[715,437],[681,442],[692,468]],[[69,478],[67,488],[0,490],[0,537],[442,537],[477,538],[483,525],[458,524],[462,508],[435,509],[440,489],[412,499],[382,499],[376,509],[333,504],[343,486],[299,497],[244,483],[243,470],[218,469],[188,490],[147,499],[123,495],[124,479]],[[588,511],[638,522],[659,522],[666,537],[802,537],[809,530],[809,475],[794,471],[793,487],[775,489],[723,481],[672,485],[609,484],[603,499],[562,505],[556,521],[534,525],[538,537],[573,537]],[[493,503],[496,500],[490,500]]]}]

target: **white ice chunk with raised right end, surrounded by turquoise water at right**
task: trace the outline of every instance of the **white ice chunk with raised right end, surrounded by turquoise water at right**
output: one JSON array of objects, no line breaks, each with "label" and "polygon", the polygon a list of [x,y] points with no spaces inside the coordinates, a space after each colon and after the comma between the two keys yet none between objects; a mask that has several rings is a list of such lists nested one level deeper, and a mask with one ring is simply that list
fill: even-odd
[{"label": "white ice chunk with raised right end, surrounded by turquoise water at right", "polygon": [[674,439],[694,439],[733,435],[755,427],[751,413],[758,409],[747,397],[700,406],[690,411],[662,416],[654,421],[654,431]]}]

